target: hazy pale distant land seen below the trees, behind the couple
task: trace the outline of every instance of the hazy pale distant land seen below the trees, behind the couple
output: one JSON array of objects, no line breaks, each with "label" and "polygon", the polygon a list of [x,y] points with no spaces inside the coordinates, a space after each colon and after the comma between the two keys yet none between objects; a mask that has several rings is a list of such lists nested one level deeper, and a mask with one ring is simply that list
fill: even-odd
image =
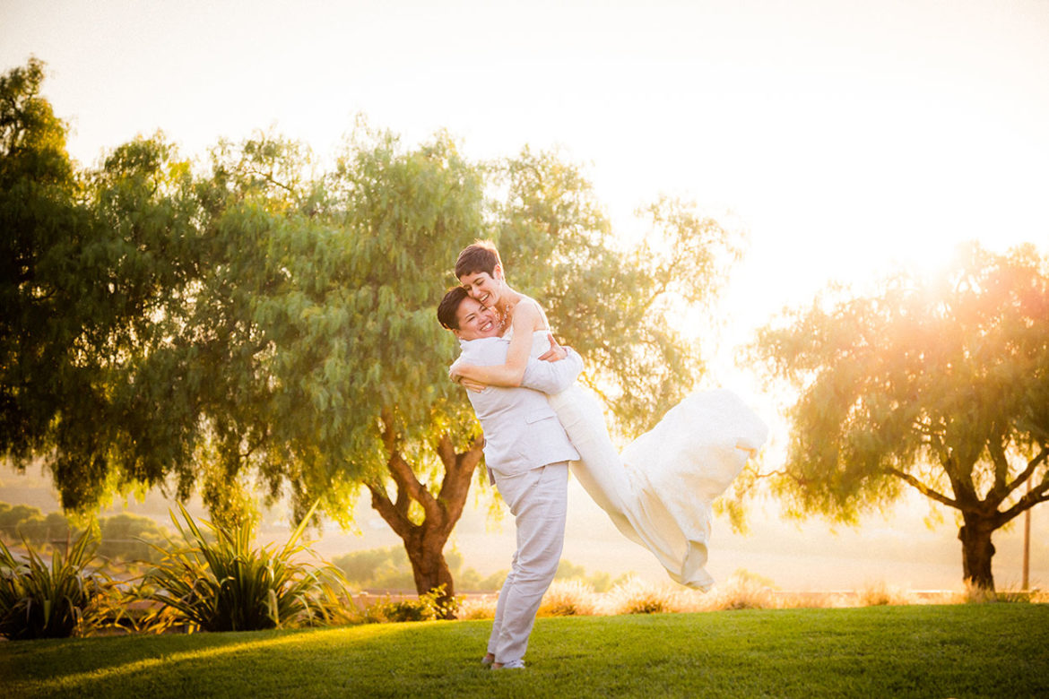
[{"label": "hazy pale distant land seen below the trees, behind the couple", "polygon": [[[514,550],[513,519],[500,505],[504,517],[495,522],[489,520],[487,504],[475,504],[476,484],[471,488],[463,519],[446,551],[457,549],[464,558],[464,569],[474,568],[481,575],[489,575],[510,567]],[[57,494],[46,477],[31,469],[19,476],[3,465],[0,501],[10,503],[10,496],[19,496],[21,504],[44,511],[58,508]],[[173,508],[174,502],[164,501],[154,492],[144,503],[132,499],[126,511],[152,517],[170,528],[168,507]],[[204,511],[198,498],[191,501],[191,509]],[[1049,526],[1049,511],[1040,510],[1047,509],[1032,511],[1031,588],[1049,585],[1049,542],[1039,539]],[[123,510],[117,506],[104,510],[103,515]],[[707,571],[716,583],[724,583],[743,569],[771,580],[782,590],[797,592],[862,590],[879,584],[903,590],[962,590],[962,550],[957,526],[946,517],[942,524],[929,529],[923,522],[925,510],[923,501],[908,498],[890,517],[866,517],[860,529],[853,529],[832,527],[818,518],[804,523],[785,521],[763,516],[752,506],[749,536],[732,532],[724,518],[715,518]],[[368,506],[366,497],[361,498],[355,514],[361,534],[343,532],[328,521],[323,536],[315,542],[318,553],[330,560],[351,551],[403,546],[379,514]],[[260,541],[280,541],[290,531],[286,510],[275,508],[264,512]],[[996,586],[1002,590],[1019,589],[1023,516],[1009,530],[996,532],[993,542],[998,549],[992,564]],[[670,584],[656,559],[616,530],[575,479],[569,486],[569,518],[561,558],[582,566],[587,574],[606,572],[617,577],[634,572],[651,583]]]}]

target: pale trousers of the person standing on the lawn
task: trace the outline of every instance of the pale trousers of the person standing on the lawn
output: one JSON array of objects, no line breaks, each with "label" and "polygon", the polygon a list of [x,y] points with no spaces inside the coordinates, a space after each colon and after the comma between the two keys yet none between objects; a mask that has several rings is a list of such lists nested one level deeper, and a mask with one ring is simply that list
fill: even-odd
[{"label": "pale trousers of the person standing on the lawn", "polygon": [[496,476],[499,495],[517,525],[517,550],[495,606],[488,652],[495,662],[524,657],[528,636],[564,545],[569,462],[549,463],[517,476]]}]

